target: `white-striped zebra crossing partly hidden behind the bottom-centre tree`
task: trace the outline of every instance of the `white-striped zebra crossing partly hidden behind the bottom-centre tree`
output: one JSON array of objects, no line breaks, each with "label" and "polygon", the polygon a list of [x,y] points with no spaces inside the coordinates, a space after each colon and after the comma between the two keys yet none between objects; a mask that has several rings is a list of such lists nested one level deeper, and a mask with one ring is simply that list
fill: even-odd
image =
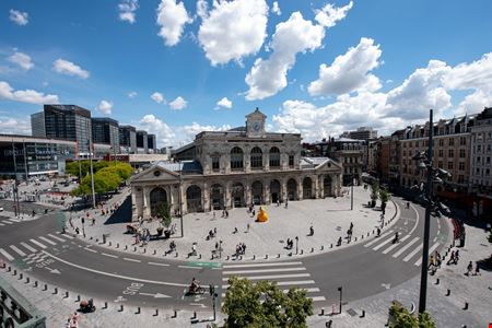
[{"label": "white-striped zebra crossing partly hidden behind the bottom-centre tree", "polygon": [[301,261],[224,265],[222,269],[222,283],[224,283],[222,297],[225,297],[225,291],[229,288],[226,282],[235,276],[239,279],[247,278],[253,282],[274,281],[284,293],[289,292],[291,288],[300,288],[306,290],[307,297],[313,302],[326,301]]}]

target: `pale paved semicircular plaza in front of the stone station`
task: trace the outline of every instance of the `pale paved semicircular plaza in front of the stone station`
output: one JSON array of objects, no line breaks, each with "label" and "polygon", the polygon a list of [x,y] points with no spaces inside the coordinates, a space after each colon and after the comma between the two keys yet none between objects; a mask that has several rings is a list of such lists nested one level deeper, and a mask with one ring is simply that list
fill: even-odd
[{"label": "pale paved semicircular plaza in front of the stone station", "polygon": [[[344,196],[338,198],[326,199],[309,199],[303,201],[290,201],[289,207],[277,204],[263,207],[268,213],[269,220],[265,223],[255,222],[255,218],[247,213],[247,209],[238,208],[230,210],[229,218],[222,218],[221,211],[207,213],[190,213],[183,219],[185,225],[185,236],[181,238],[179,230],[179,220],[174,219],[173,224],[177,225],[176,234],[172,236],[177,246],[176,254],[169,254],[167,258],[190,259],[190,260],[212,260],[212,250],[215,249],[215,243],[223,241],[222,251],[215,253],[214,261],[232,261],[238,260],[233,255],[235,254],[236,245],[239,243],[246,244],[246,254],[242,260],[257,260],[272,258],[289,258],[296,256],[295,236],[298,236],[298,255],[309,256],[316,255],[320,251],[330,251],[341,247],[360,243],[370,236],[375,235],[376,227],[380,225],[380,210],[366,208],[365,204],[370,200],[370,189],[363,187],[353,188],[353,210],[350,210],[350,194],[349,188],[344,188]],[[124,189],[120,194],[113,197],[105,207],[110,207],[114,203],[121,204],[128,197],[128,189]],[[259,207],[255,207],[258,213]],[[168,244],[171,239],[151,241],[148,245],[142,246],[142,243],[134,246],[134,236],[126,234],[126,225],[128,222],[108,223],[108,216],[102,216],[101,210],[90,210],[90,220],[86,213],[67,212],[67,216],[72,216],[74,227],[80,229],[80,237],[82,236],[81,218],[85,218],[84,230],[85,241],[101,245],[103,234],[106,235],[106,244],[103,246],[116,248],[119,250],[131,251],[133,254],[143,254],[164,256],[164,253],[169,249]],[[92,218],[95,215],[95,225],[92,225]],[[131,215],[129,204],[115,214],[120,219],[129,219]],[[122,216],[122,218],[121,218]],[[399,211],[393,201],[388,202],[385,215],[385,224],[382,233],[393,225],[399,218]],[[393,219],[393,220],[391,220]],[[125,221],[127,221],[125,220]],[[349,245],[347,231],[350,223],[353,223],[352,241]],[[247,225],[249,224],[249,231]],[[314,236],[308,236],[309,226],[314,227]],[[69,233],[74,233],[69,229]],[[142,229],[149,229],[151,234],[156,233],[156,227],[160,226],[157,221],[144,221]],[[215,237],[207,241],[207,235],[210,230],[216,229]],[[237,229],[237,233],[234,233]],[[337,247],[337,241],[342,237],[342,246]],[[288,238],[294,239],[293,249],[285,249],[285,242]],[[198,256],[188,257],[191,251],[191,246],[197,243]],[[134,250],[137,249],[137,250]],[[302,255],[301,255],[302,254]],[[221,258],[218,258],[219,255]]]}]

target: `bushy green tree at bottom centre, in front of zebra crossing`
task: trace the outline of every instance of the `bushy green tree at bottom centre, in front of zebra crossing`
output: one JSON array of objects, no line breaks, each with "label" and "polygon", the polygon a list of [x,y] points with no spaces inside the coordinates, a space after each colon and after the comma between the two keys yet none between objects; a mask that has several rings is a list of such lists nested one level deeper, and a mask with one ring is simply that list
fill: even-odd
[{"label": "bushy green tree at bottom centre, in front of zebra crossing", "polygon": [[307,327],[313,315],[313,300],[305,290],[291,289],[286,294],[269,281],[254,284],[232,277],[225,294],[224,327]]}]

